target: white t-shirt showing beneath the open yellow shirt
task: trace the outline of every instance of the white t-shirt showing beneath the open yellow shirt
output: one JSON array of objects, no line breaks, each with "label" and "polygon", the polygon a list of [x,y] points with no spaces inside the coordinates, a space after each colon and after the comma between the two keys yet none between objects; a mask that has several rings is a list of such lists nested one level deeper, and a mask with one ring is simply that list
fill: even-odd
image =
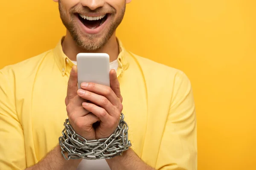
[{"label": "white t-shirt showing beneath the open yellow shirt", "polygon": [[[76,61],[72,61],[76,65]],[[109,63],[110,70],[118,68],[118,61],[117,59],[113,62]],[[87,160],[83,159],[76,170],[111,170],[108,166],[108,163],[105,159],[99,160]]]}]

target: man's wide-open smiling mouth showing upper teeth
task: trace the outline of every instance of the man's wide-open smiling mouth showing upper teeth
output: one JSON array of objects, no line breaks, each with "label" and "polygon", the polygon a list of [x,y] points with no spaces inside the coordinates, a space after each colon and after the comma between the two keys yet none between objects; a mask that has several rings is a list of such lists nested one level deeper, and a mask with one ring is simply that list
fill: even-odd
[{"label": "man's wide-open smiling mouth showing upper teeth", "polygon": [[105,23],[105,21],[108,18],[108,14],[104,14],[97,17],[90,17],[90,16],[78,14],[78,18],[81,21],[81,23],[83,23],[84,26],[86,26],[87,28],[95,29],[101,26],[103,23]]}]

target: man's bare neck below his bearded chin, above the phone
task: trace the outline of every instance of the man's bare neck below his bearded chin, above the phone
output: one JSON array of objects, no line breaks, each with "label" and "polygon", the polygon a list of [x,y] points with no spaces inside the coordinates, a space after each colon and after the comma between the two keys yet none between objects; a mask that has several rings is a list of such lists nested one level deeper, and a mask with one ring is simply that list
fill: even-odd
[{"label": "man's bare neck below his bearded chin, above the phone", "polygon": [[119,54],[119,46],[115,33],[102,48],[96,51],[86,51],[76,44],[69,31],[67,31],[67,34],[62,42],[62,49],[64,54],[66,54],[66,56],[73,61],[76,61],[76,55],[78,53],[107,53],[109,55],[110,62],[116,60]]}]

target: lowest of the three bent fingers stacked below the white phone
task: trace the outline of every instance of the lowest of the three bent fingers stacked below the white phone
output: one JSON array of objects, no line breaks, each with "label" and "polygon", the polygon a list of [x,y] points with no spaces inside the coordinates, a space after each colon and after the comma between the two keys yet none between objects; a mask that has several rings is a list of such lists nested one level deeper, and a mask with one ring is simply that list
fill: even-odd
[{"label": "lowest of the three bent fingers stacked below the white phone", "polygon": [[97,116],[101,122],[105,123],[110,120],[110,115],[108,112],[97,105],[94,105],[93,103],[87,103],[83,102],[82,106],[87,110],[93,113],[95,116]]}]

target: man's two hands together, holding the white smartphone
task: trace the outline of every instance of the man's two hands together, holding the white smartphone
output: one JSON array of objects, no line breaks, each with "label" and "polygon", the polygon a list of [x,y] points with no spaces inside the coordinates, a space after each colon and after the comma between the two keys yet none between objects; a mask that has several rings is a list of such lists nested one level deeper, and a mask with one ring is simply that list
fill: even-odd
[{"label": "man's two hands together, holding the white smartphone", "polygon": [[[115,70],[110,71],[110,85],[82,83],[78,90],[77,68],[72,68],[65,99],[67,114],[76,133],[87,140],[107,138],[119,124],[122,96]],[[99,126],[93,127],[96,122]]]}]

